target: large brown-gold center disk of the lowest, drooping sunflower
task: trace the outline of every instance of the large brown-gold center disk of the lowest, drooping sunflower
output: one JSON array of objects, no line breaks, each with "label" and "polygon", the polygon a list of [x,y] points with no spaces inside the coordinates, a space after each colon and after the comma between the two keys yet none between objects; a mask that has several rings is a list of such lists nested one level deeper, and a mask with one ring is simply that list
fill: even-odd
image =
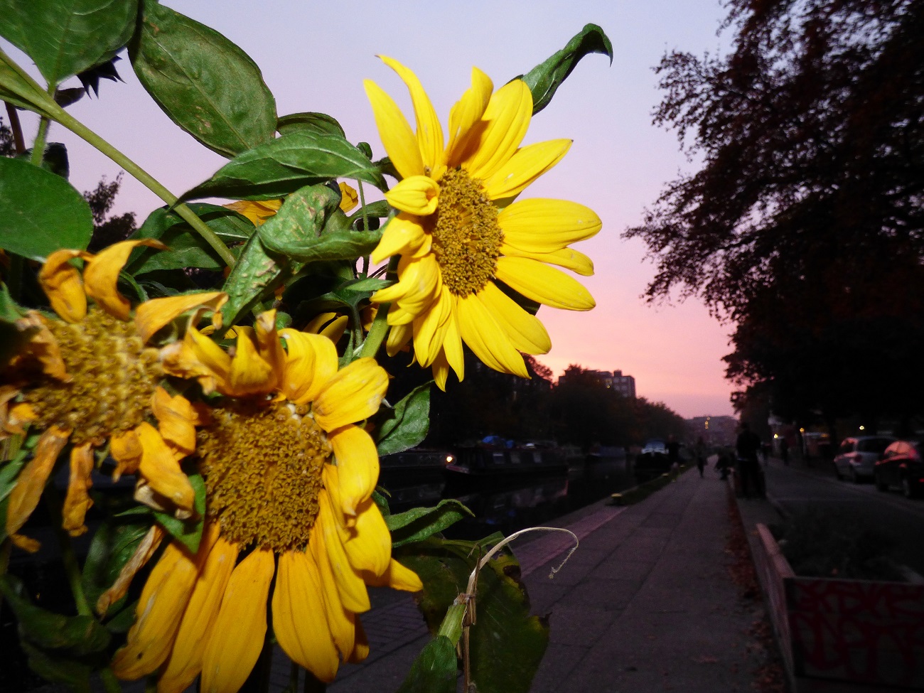
[{"label": "large brown-gold center disk of the lowest, drooping sunflower", "polygon": [[293,409],[252,402],[218,407],[199,432],[208,515],[241,547],[279,553],[308,545],[332,448],[314,419]]}]

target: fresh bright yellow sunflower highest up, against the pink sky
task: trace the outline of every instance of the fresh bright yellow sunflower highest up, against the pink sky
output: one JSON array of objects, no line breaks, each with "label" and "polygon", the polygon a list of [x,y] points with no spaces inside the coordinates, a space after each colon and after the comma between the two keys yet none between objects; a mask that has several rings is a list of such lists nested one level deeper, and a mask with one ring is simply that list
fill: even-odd
[{"label": "fresh bright yellow sunflower highest up, against the pink sky", "polygon": [[520,147],[532,116],[529,87],[515,79],[494,91],[472,69],[471,89],[449,114],[449,141],[419,79],[382,57],[407,84],[417,120],[411,129],[388,94],[366,80],[385,151],[402,180],[385,193],[400,213],[372,253],[400,255],[398,282],[373,300],[391,303],[389,354],[414,341],[422,366],[444,387],[449,368],[464,377],[462,343],[496,371],[529,377],[519,352],[551,347],[542,323],[497,286],[567,310],[590,310],[587,289],[558,265],[593,274],[590,259],[568,248],[600,230],[587,207],[560,200],[511,201],[557,164],[571,140]]}]

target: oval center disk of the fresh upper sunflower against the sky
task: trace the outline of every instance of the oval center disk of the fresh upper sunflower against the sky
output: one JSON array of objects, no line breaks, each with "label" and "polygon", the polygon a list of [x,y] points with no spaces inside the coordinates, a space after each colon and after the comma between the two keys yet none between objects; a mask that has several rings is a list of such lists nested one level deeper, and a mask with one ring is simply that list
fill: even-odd
[{"label": "oval center disk of the fresh upper sunflower against the sky", "polygon": [[432,235],[433,254],[453,294],[477,294],[494,278],[504,232],[497,225],[497,208],[480,181],[463,169],[446,171],[440,180]]}]

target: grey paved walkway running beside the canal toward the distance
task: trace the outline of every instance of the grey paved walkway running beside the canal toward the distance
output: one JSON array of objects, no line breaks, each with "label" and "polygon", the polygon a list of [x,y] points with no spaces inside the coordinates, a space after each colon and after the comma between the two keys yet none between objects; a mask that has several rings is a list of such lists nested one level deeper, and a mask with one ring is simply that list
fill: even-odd
[{"label": "grey paved walkway running beside the canal toward the distance", "polygon": [[[599,503],[562,518],[580,548],[550,534],[514,551],[551,642],[532,693],[732,693],[752,690],[748,629],[759,613],[727,571],[725,484],[713,468],[625,508]],[[370,659],[347,665],[331,693],[395,690],[429,635],[401,597],[363,618]],[[477,626],[476,626],[477,627]]]}]

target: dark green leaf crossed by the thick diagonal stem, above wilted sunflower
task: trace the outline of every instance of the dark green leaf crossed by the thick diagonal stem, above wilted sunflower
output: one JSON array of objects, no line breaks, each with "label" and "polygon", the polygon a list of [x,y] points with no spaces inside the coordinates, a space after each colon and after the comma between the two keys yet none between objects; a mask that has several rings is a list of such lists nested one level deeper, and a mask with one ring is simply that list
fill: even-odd
[{"label": "dark green leaf crossed by the thick diagonal stem, above wilted sunflower", "polygon": [[[254,225],[237,212],[204,202],[193,202],[189,208],[225,242],[232,253],[239,252],[240,248],[235,246],[253,236]],[[169,250],[145,247],[135,249],[126,266],[128,274],[137,276],[187,267],[201,267],[205,270],[221,270],[225,267],[225,262],[215,249],[186,220],[167,207],[154,210],[132,238],[157,238]]]}]

